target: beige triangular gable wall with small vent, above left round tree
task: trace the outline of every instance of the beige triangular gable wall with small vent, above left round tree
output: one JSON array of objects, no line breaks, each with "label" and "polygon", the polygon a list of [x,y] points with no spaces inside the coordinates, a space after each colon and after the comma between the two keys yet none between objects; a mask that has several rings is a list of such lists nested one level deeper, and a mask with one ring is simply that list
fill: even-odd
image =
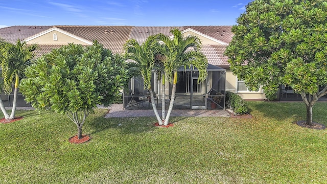
[{"label": "beige triangular gable wall with small vent, above left round tree", "polygon": [[[53,34],[57,34],[57,41],[55,41],[53,39]],[[83,41],[80,41],[76,38],[73,38],[71,36],[68,36],[66,34],[63,34],[61,32],[58,32],[56,30],[54,31],[51,31],[49,33],[46,33],[42,36],[39,36],[33,40],[30,40],[28,41],[27,43],[28,44],[33,44],[33,43],[37,43],[37,44],[60,44],[60,45],[63,45],[63,44],[68,44],[68,43],[76,43],[76,44],[86,44],[85,42]]]}]

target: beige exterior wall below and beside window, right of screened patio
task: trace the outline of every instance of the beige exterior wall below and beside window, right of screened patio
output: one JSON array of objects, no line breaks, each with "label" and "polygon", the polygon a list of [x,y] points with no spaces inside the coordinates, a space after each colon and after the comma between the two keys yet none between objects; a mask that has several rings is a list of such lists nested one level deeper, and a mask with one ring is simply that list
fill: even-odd
[{"label": "beige exterior wall below and beside window, right of screened patio", "polygon": [[226,70],[226,91],[236,93],[245,100],[266,99],[262,89],[259,91],[237,91],[237,76],[233,75],[229,69]]}]

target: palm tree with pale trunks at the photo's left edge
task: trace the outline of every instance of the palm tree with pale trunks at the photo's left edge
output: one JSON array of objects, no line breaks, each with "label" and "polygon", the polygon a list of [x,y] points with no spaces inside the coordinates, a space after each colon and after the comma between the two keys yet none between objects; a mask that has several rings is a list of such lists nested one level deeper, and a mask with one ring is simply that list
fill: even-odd
[{"label": "palm tree with pale trunks at the photo's left edge", "polygon": [[0,64],[5,93],[10,94],[12,92],[12,85],[14,85],[14,99],[10,116],[5,110],[2,100],[0,100],[0,108],[6,120],[15,118],[19,80],[24,77],[25,68],[30,65],[31,59],[34,57],[33,51],[36,48],[35,44],[27,45],[26,42],[21,42],[19,39],[16,41],[16,44],[10,42],[2,42],[1,44]]}]

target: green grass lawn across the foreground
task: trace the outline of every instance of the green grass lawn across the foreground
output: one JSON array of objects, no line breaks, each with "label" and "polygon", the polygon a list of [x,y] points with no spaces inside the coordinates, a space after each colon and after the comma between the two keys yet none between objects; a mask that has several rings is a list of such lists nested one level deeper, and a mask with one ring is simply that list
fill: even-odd
[{"label": "green grass lawn across the foreground", "polygon": [[[86,120],[86,144],[65,116],[17,111],[0,124],[0,183],[326,183],[327,130],[294,124],[304,103],[249,102],[253,119],[155,118]],[[327,103],[314,106],[327,125]]]}]

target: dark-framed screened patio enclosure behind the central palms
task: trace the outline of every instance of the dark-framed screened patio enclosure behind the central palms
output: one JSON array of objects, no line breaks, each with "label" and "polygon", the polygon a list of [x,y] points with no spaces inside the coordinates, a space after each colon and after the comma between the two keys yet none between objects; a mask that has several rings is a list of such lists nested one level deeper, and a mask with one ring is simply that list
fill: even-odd
[{"label": "dark-framed screened patio enclosure behind the central palms", "polygon": [[[197,68],[181,67],[178,70],[176,94],[173,109],[225,109],[226,70],[209,64],[208,76],[198,84]],[[172,84],[165,83],[165,108],[168,109]],[[156,71],[152,72],[151,88],[157,109],[161,109],[162,83]],[[128,90],[123,95],[124,109],[152,109],[150,94],[144,88],[144,79],[136,76],[130,79]]]}]

